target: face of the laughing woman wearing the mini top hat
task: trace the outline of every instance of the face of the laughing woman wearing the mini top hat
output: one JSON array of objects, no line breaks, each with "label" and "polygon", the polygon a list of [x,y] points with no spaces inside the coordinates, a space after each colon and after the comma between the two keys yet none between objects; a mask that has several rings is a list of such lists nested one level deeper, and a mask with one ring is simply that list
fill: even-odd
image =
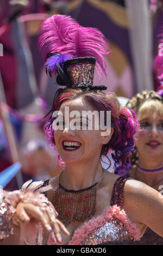
[{"label": "face of the laughing woman wearing the mini top hat", "polygon": [[[68,115],[66,114],[67,109]],[[94,110],[91,104],[84,102],[81,98],[66,100],[62,103],[60,111],[63,116],[63,123],[60,115],[58,120],[53,122],[53,127],[55,126],[55,144],[65,163],[82,163],[97,159],[100,157],[103,144],[109,142],[113,132],[112,128],[109,136],[101,136],[102,130],[95,130],[95,120],[90,122],[89,118],[82,119],[83,111],[93,112]],[[74,115],[72,111],[78,111],[79,115]],[[74,117],[76,117],[75,121]],[[63,124],[62,127],[61,124]],[[72,124],[76,129],[72,128]],[[56,126],[60,129],[56,129]]]}]

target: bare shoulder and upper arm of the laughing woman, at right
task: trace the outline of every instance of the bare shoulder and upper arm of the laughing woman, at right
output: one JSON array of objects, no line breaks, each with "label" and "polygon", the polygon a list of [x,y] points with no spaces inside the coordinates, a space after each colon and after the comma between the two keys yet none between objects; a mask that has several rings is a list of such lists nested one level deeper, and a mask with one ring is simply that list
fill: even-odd
[{"label": "bare shoulder and upper arm of the laughing woman, at right", "polygon": [[145,228],[151,228],[163,237],[163,196],[146,184],[128,180],[124,189],[122,208],[141,235]]}]

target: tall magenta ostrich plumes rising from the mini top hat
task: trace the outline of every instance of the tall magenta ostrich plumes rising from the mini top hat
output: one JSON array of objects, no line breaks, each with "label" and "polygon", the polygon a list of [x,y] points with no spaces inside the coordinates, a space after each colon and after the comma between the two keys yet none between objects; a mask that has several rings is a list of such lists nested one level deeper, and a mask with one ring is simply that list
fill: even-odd
[{"label": "tall magenta ostrich plumes rising from the mini top hat", "polygon": [[41,23],[39,47],[43,58],[57,51],[68,53],[74,58],[95,57],[99,79],[106,75],[106,62],[103,55],[110,52],[103,33],[97,28],[82,27],[70,16],[53,15]]}]

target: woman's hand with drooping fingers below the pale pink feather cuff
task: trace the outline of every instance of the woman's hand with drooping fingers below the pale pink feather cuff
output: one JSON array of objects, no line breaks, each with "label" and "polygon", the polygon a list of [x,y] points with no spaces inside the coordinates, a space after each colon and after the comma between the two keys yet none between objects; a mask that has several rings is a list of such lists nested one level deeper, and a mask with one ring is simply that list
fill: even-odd
[{"label": "woman's hand with drooping fingers below the pale pink feather cuff", "polygon": [[65,225],[49,211],[49,206],[41,206],[34,203],[23,203],[20,201],[16,207],[16,216],[20,222],[28,224],[30,220],[41,222],[45,229],[45,234],[48,239],[49,233],[53,231],[55,239],[58,243],[62,242],[61,231],[65,235],[70,235]]}]

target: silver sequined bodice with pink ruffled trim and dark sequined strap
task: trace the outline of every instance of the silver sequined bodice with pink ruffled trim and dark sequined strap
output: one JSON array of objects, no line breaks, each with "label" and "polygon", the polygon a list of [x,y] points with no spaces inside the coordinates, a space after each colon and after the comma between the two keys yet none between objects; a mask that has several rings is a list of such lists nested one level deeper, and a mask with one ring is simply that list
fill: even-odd
[{"label": "silver sequined bodice with pink ruffled trim and dark sequined strap", "polygon": [[[120,245],[127,241],[140,240],[140,232],[136,225],[131,223],[124,210],[121,210],[126,181],[127,178],[117,178],[112,189],[110,206],[102,215],[90,219],[74,231],[68,245]],[[48,181],[43,186],[47,184]],[[52,236],[49,237],[48,243],[57,245]]]}]

